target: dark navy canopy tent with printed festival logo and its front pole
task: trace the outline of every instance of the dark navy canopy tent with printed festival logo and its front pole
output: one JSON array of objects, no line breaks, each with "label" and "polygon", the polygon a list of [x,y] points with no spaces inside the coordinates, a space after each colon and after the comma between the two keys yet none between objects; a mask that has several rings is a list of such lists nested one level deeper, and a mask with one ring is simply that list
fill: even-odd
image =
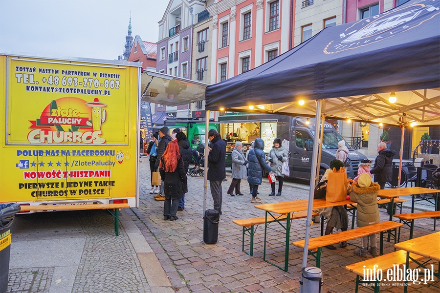
[{"label": "dark navy canopy tent with printed festival logo and its front pole", "polygon": [[[327,117],[402,127],[410,122],[439,125],[439,87],[440,0],[412,0],[368,19],[326,28],[268,63],[208,86],[206,109],[315,116],[317,122]],[[396,103],[388,100],[391,92]],[[316,123],[315,133],[319,130]],[[314,145],[319,146],[317,135]],[[319,166],[317,147],[312,160]],[[312,170],[311,187],[315,176]]]}]

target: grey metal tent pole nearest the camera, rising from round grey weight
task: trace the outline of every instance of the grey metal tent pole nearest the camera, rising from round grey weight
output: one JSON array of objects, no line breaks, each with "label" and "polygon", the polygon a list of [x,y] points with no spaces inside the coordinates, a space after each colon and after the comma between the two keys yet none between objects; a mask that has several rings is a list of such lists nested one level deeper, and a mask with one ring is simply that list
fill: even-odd
[{"label": "grey metal tent pole nearest the camera, rising from round grey weight", "polygon": [[[321,117],[321,103],[322,100],[316,101],[316,114],[315,114],[315,133],[319,131],[319,118]],[[319,139],[318,136],[315,135],[313,141],[313,157],[312,157],[312,165],[316,166],[317,158],[318,158],[318,148],[319,148]],[[315,186],[315,176],[316,176],[316,168],[310,169],[310,190],[308,192],[308,209],[307,209],[307,219],[306,219],[306,240],[304,243],[304,251],[303,251],[303,269],[307,267],[307,258],[308,258],[308,240],[310,238],[310,225],[311,225],[311,214],[313,208],[313,193]],[[303,277],[301,274],[301,281],[303,281]],[[300,291],[302,292],[302,291]]]}]

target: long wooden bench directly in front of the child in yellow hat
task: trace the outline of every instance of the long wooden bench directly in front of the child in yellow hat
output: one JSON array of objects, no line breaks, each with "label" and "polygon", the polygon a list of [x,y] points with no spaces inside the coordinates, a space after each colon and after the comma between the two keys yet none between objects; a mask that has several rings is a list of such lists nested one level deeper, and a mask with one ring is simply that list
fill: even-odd
[{"label": "long wooden bench directly in front of the child in yellow hat", "polygon": [[[395,230],[403,226],[403,223],[393,221],[380,222],[377,224],[360,227],[352,230],[342,231],[334,234],[310,238],[308,241],[308,254],[316,259],[316,267],[321,265],[321,250],[324,246],[341,243],[361,238],[371,234],[380,233],[380,254],[383,254],[383,233],[388,230]],[[294,246],[304,248],[305,240],[293,242]]]}]

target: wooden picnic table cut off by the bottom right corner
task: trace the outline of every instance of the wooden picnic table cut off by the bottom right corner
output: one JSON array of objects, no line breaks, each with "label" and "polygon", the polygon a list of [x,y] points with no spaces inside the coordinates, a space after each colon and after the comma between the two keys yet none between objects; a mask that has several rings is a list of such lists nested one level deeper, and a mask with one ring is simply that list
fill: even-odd
[{"label": "wooden picnic table cut off by the bottom right corner", "polygon": [[[406,268],[409,268],[409,260],[411,259],[412,261],[417,263],[418,266],[429,270],[429,268],[426,268],[424,266],[424,263],[421,264],[420,262],[418,262],[418,260],[412,258],[410,253],[415,253],[440,262],[440,232],[431,233],[428,235],[396,243],[394,246],[396,247],[396,249],[406,251]],[[422,278],[424,277],[423,274],[421,274],[421,276]],[[434,276],[440,278],[440,272],[434,273]],[[406,293],[408,289],[407,283],[408,281],[405,281],[404,293]]]}]

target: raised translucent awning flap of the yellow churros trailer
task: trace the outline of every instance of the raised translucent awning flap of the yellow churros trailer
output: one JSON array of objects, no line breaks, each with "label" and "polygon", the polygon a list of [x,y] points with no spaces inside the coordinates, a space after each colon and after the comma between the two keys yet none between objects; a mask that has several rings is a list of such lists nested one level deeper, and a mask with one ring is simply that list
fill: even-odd
[{"label": "raised translucent awning flap of the yellow churros trailer", "polygon": [[167,105],[185,105],[205,99],[203,84],[176,76],[144,70],[141,77],[141,101]]}]

